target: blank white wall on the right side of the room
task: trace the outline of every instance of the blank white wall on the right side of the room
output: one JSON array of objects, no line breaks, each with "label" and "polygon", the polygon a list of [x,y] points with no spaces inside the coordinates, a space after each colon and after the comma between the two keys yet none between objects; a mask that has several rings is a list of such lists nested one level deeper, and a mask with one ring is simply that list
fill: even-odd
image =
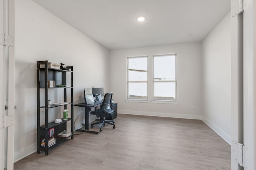
[{"label": "blank white wall on the right side of the room", "polygon": [[202,120],[231,143],[230,13],[202,41]]}]

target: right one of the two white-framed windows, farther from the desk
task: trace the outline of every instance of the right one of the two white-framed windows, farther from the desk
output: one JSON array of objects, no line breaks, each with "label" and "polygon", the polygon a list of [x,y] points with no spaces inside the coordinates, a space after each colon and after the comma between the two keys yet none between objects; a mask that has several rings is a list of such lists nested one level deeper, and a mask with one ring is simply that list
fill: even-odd
[{"label": "right one of the two white-framed windows, farther from the desk", "polygon": [[154,100],[176,100],[176,55],[153,56]]}]

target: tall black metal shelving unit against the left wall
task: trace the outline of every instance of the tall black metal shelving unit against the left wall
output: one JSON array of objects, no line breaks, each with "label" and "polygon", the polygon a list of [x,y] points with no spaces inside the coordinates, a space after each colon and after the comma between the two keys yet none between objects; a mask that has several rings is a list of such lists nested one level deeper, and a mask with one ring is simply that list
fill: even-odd
[{"label": "tall black metal shelving unit against the left wall", "polygon": [[[40,67],[41,66],[41,67]],[[37,61],[37,153],[40,154],[40,151],[44,151],[45,155],[49,154],[49,148],[52,146],[48,146],[48,130],[54,127],[54,136],[56,139],[56,144],[66,140],[66,137],[58,137],[58,133],[67,129],[67,122],[71,121],[71,132],[72,135],[68,138],[74,139],[74,104],[73,104],[73,66],[67,66],[70,70],[61,70],[56,68],[49,68],[48,61]],[[70,72],[70,87],[56,87],[56,84],[67,84],[67,75],[66,73]],[[55,81],[55,87],[48,87],[48,80]],[[40,90],[43,89],[43,90]],[[67,102],[67,89],[70,89],[70,102],[64,105],[51,105],[48,107],[48,90],[54,89],[64,89],[64,102]],[[42,94],[44,91],[44,94]],[[44,95],[44,106],[40,104],[40,95]],[[63,120],[61,123],[55,123],[54,121],[49,122],[48,110],[54,107],[63,107],[67,109],[67,106],[71,105],[71,117],[68,120]],[[40,125],[41,117],[40,111],[44,110],[44,125]],[[45,139],[45,147],[41,146],[42,139]],[[55,146],[53,145],[53,146]]]}]

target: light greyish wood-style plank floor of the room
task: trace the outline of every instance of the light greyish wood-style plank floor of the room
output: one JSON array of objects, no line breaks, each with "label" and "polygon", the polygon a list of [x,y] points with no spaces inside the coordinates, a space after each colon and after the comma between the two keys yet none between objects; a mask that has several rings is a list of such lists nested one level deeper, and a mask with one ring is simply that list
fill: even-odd
[{"label": "light greyish wood-style plank floor of the room", "polygon": [[231,169],[230,145],[201,120],[118,114],[115,121],[116,129],[75,135],[14,170]]}]

